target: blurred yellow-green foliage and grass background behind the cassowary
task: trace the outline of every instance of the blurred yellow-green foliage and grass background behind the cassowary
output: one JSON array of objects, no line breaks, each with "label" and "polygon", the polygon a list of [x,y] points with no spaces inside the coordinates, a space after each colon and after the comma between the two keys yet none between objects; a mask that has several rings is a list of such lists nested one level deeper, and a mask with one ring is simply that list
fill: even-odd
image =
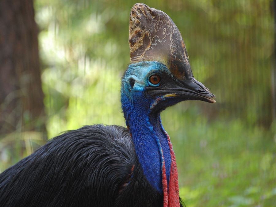
[{"label": "blurred yellow-green foliage and grass background behind the cassowary", "polygon": [[[120,80],[129,63],[128,21],[135,3],[35,1],[50,138],[94,123],[125,126]],[[162,113],[186,205],[275,206],[272,2],[143,3],[172,18],[183,36],[195,78],[217,96],[213,105],[190,101]],[[11,158],[5,149],[1,171],[28,154]]]}]

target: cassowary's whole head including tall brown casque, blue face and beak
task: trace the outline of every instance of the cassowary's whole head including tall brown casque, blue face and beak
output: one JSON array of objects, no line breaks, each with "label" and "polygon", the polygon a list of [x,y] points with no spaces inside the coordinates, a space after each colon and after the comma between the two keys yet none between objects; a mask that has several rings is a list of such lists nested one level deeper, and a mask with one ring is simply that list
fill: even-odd
[{"label": "cassowary's whole head including tall brown casque, blue face and beak", "polygon": [[[215,96],[194,78],[182,36],[171,18],[138,3],[129,25],[130,62],[122,78],[122,103],[143,103],[160,113],[185,100],[215,103]],[[125,95],[126,96],[125,96]]]}]

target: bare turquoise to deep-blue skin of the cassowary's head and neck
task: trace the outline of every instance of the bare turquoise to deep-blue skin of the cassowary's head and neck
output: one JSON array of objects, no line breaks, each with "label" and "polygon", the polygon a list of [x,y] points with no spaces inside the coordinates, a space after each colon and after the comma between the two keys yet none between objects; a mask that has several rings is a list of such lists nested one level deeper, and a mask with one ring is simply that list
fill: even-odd
[{"label": "bare turquoise to deep-blue skin of the cassowary's head and neck", "polygon": [[[172,76],[169,69],[162,63],[143,61],[128,66],[122,78],[121,103],[122,109],[132,135],[136,154],[143,168],[144,175],[156,190],[162,194],[162,156],[165,161],[167,184],[170,178],[171,153],[167,136],[161,125],[160,112],[152,112],[152,104],[156,98],[151,97],[145,87],[159,86],[149,82],[151,75],[161,73]],[[132,84],[131,79],[133,80]],[[162,79],[162,77],[161,77]],[[133,87],[132,87],[133,86]]]}]

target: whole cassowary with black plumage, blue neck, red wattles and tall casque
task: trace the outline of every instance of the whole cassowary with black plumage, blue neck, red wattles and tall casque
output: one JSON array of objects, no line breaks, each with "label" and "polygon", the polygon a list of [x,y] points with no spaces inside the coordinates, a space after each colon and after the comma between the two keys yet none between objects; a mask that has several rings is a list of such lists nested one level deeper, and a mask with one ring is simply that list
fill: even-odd
[{"label": "whole cassowary with black plumage, blue neck, red wattles and tall casque", "polygon": [[191,71],[171,18],[138,3],[131,63],[122,77],[128,128],[92,125],[50,140],[0,175],[1,207],[179,207],[178,174],[160,112],[185,100],[214,103]]}]

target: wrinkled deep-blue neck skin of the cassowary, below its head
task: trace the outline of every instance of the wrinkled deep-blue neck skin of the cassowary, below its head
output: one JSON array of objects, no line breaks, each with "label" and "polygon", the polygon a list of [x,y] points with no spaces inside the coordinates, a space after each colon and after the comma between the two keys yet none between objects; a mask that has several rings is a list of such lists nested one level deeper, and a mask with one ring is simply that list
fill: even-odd
[{"label": "wrinkled deep-blue neck skin of the cassowary, below its head", "polygon": [[[136,97],[139,96],[139,97]],[[135,98],[145,100],[144,93],[135,94]],[[127,99],[122,96],[122,99]],[[159,114],[149,113],[151,102],[123,101],[126,125],[132,135],[136,154],[144,174],[151,185],[162,193],[162,164],[166,166],[166,177],[170,176],[171,156],[167,137],[159,119]],[[146,108],[145,105],[148,105]],[[163,153],[163,158],[162,158]],[[164,162],[165,161],[165,162]],[[163,163],[162,163],[163,162]],[[169,180],[167,180],[169,182]]]}]

